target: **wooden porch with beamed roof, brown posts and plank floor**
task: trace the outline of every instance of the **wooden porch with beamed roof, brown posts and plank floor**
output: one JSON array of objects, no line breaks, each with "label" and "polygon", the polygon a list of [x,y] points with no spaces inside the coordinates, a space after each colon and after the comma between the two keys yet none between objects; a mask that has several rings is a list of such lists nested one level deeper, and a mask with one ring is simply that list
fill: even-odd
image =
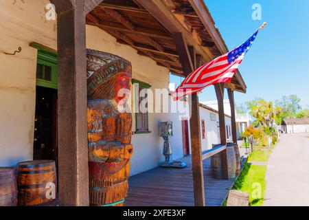
[{"label": "wooden porch with beamed roof, brown posts and plank floor", "polygon": [[[157,65],[179,76],[188,76],[203,63],[228,52],[203,0],[51,0],[56,5],[58,32],[58,152],[61,206],[89,205],[87,146],[86,24],[135,48]],[[231,83],[215,85],[220,122],[220,144],[225,146],[224,89],[231,104],[233,142],[236,122],[233,92],[246,91],[237,72]],[[71,101],[68,101],[71,100]],[[190,120],[191,158],[183,170],[157,168],[130,179],[126,205],[220,205],[231,181],[213,179],[211,155],[202,155],[198,95],[192,95]],[[227,151],[220,153],[222,176],[228,178]],[[205,174],[203,174],[205,173]],[[193,180],[194,179],[194,180]],[[205,190],[204,190],[205,188]],[[221,192],[222,191],[222,192]],[[216,193],[213,193],[216,192]],[[153,196],[150,194],[153,194]],[[165,196],[165,197],[164,197]],[[178,198],[183,198],[179,201]],[[217,198],[218,197],[218,198]]]}]

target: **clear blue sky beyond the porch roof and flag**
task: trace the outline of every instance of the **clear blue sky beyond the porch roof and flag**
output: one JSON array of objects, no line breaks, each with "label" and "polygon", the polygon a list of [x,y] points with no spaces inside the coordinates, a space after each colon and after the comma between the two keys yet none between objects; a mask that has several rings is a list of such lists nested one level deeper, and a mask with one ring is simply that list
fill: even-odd
[{"label": "clear blue sky beyond the porch roof and flag", "polygon": [[[309,1],[308,0],[205,0],[229,50],[237,47],[266,21],[240,65],[247,94],[236,92],[236,103],[255,97],[277,100],[297,95],[309,108]],[[252,5],[262,5],[262,21],[253,21]],[[183,79],[183,78],[182,78]],[[181,79],[172,76],[171,83]],[[200,101],[216,100],[207,87]],[[227,98],[227,94],[225,94]]]}]

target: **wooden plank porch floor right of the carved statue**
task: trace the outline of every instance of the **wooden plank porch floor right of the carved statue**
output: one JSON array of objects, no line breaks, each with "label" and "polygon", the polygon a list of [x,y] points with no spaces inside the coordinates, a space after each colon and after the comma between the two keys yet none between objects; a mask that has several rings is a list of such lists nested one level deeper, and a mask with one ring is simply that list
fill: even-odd
[{"label": "wooden plank porch floor right of the carved statue", "polygon": [[[130,177],[124,206],[194,206],[191,157],[187,168],[155,168]],[[233,181],[214,179],[210,158],[204,161],[206,206],[220,206]]]}]

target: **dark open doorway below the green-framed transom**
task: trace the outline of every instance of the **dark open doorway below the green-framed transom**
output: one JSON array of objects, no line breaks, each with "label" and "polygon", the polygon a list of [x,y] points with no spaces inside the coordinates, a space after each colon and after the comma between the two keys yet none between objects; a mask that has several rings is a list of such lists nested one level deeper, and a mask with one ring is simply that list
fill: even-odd
[{"label": "dark open doorway below the green-framed transom", "polygon": [[56,89],[36,87],[34,159],[52,159],[58,164],[58,97]]}]

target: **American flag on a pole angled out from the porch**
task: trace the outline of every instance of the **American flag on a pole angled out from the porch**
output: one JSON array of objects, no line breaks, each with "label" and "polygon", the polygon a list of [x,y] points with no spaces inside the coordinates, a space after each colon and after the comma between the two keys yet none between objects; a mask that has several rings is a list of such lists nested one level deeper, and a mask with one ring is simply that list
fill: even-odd
[{"label": "American flag on a pole angled out from the porch", "polygon": [[259,30],[239,47],[194,70],[174,91],[174,100],[196,94],[209,85],[231,82],[231,78],[237,71],[240,63],[242,63],[244,55],[249,51]]}]

